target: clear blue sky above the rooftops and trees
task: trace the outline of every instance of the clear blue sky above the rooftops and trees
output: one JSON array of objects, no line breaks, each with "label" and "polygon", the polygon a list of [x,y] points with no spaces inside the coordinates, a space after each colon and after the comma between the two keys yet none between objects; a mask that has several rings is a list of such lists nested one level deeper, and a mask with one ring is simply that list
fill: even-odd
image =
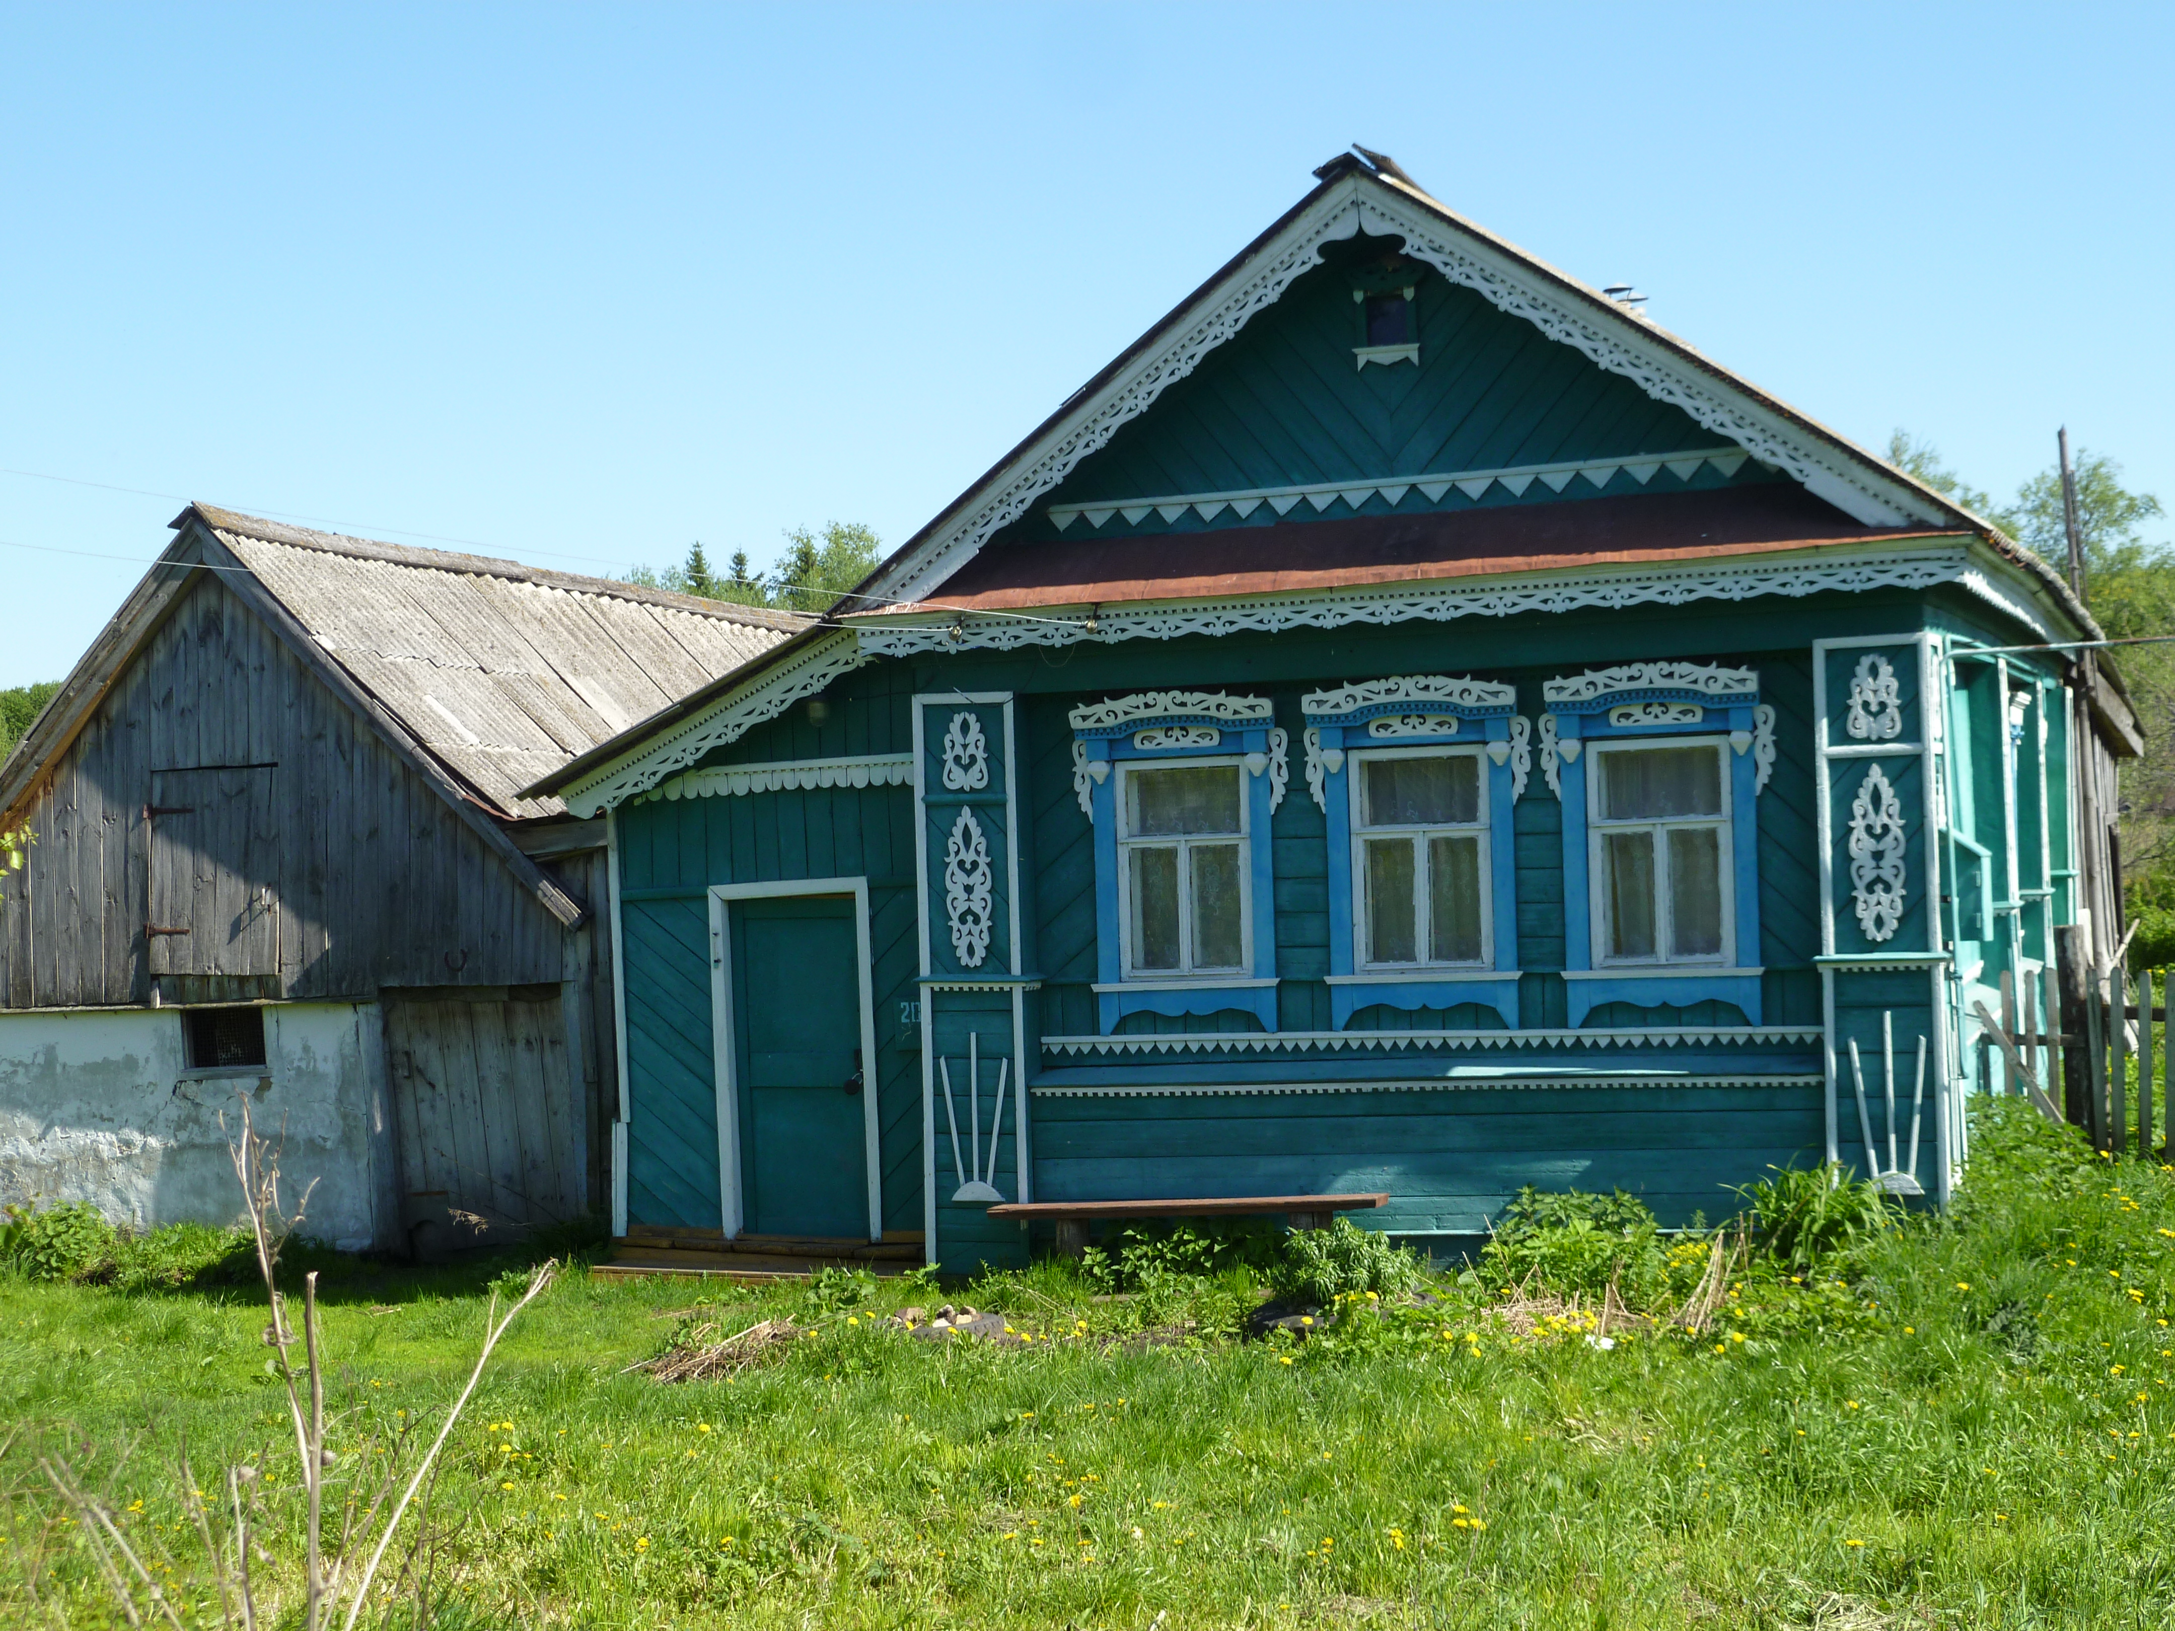
[{"label": "clear blue sky above the rooftops and trees", "polygon": [[0,685],[167,494],[898,541],[1353,139],[1847,435],[2175,502],[2171,67],[2164,2],[0,7],[0,468],[157,494],[0,474]]}]

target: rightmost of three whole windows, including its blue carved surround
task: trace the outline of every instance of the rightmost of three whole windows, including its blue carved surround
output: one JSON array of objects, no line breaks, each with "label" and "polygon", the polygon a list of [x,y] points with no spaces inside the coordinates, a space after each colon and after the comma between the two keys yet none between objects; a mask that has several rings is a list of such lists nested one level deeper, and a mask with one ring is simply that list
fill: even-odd
[{"label": "rightmost of three whole windows, including its blue carved surround", "polygon": [[1749,668],[1631,663],[1549,681],[1564,805],[1568,1020],[1605,1003],[1733,1003],[1760,1024],[1757,796],[1775,709]]}]

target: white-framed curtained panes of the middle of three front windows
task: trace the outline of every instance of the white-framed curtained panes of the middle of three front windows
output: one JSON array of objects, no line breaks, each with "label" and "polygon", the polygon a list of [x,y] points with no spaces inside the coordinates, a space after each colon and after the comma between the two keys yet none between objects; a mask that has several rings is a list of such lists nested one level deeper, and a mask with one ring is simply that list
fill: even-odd
[{"label": "white-framed curtained panes of the middle of three front windows", "polygon": [[1355,752],[1353,879],[1359,968],[1488,959],[1488,816],[1481,755]]}]

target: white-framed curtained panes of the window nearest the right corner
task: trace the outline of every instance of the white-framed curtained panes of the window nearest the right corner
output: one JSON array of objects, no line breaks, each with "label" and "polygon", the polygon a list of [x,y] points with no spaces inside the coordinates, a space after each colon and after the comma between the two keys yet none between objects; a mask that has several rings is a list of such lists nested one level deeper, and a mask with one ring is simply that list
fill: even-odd
[{"label": "white-framed curtained panes of the window nearest the right corner", "polygon": [[1590,750],[1594,966],[1729,961],[1727,742]]}]

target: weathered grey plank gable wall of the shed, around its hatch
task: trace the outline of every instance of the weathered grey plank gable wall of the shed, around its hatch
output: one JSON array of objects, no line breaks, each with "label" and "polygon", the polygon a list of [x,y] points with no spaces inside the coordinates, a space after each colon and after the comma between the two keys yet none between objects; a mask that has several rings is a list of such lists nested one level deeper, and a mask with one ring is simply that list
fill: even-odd
[{"label": "weathered grey plank gable wall of the shed, around its hatch", "polygon": [[[213,578],[178,598],[22,809],[0,1003],[150,1000],[150,822],[159,772],[276,765],[268,852],[274,981],[176,976],[165,1000],[368,1000],[381,985],[561,979],[566,931],[385,742]],[[222,896],[224,898],[224,896]]]}]

